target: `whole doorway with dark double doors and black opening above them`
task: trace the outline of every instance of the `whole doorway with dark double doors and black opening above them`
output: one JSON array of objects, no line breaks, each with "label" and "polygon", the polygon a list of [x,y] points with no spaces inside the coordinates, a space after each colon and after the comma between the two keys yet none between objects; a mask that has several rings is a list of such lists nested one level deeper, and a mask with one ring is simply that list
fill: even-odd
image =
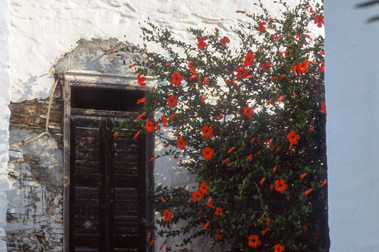
[{"label": "whole doorway with dark double doors and black opening above them", "polygon": [[152,141],[111,131],[136,115],[144,90],[67,83],[65,251],[149,251],[141,219],[151,219]]}]

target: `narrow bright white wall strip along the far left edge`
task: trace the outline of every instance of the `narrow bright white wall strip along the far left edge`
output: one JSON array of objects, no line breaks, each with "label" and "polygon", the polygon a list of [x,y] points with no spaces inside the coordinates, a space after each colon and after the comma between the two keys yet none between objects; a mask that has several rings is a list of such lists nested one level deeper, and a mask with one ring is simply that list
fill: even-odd
[{"label": "narrow bright white wall strip along the far left edge", "polygon": [[0,0],[0,251],[6,251],[4,228],[6,226],[6,191],[8,182],[4,177],[8,163],[9,149],[9,109],[11,99],[11,54],[10,54],[10,16],[9,1]]}]

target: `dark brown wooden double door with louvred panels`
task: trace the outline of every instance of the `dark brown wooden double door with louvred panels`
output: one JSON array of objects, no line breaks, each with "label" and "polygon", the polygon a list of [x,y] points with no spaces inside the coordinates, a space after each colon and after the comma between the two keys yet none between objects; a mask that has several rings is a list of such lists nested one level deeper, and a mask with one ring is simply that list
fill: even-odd
[{"label": "dark brown wooden double door with louvred panels", "polygon": [[146,251],[145,138],[109,128],[111,111],[72,109],[70,251]]}]

